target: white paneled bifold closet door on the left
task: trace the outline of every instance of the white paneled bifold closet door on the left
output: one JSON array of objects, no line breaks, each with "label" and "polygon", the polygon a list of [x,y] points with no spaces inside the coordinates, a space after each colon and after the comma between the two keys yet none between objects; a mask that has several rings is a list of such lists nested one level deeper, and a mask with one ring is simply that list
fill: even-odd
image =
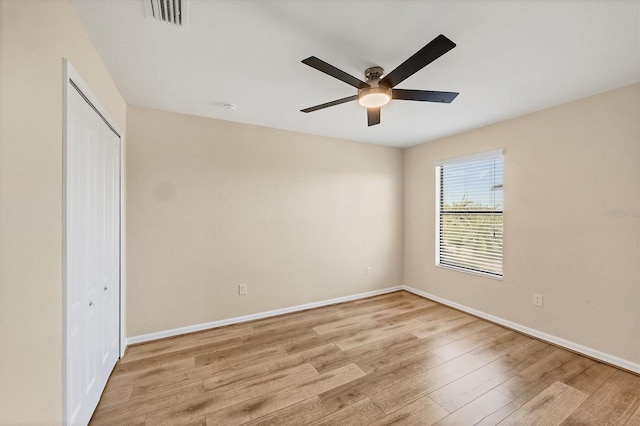
[{"label": "white paneled bifold closet door on the left", "polygon": [[67,94],[67,420],[86,424],[118,360],[120,137]]}]

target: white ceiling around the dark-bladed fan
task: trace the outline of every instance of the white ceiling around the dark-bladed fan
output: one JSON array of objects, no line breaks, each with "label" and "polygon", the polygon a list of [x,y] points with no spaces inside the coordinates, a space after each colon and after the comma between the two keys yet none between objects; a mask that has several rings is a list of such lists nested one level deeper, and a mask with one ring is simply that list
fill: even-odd
[{"label": "white ceiling around the dark-bladed fan", "polygon": [[[143,0],[72,0],[127,104],[406,147],[640,81],[638,0],[187,1],[176,28]],[[453,103],[394,100],[372,127],[357,102],[300,112],[356,94],[302,59],[364,80],[438,34],[457,47],[397,88]]]}]

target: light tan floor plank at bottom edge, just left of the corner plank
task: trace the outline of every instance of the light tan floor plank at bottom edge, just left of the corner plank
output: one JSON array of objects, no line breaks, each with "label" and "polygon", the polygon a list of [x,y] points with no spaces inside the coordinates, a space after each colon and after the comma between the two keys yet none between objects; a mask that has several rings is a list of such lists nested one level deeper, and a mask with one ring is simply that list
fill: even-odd
[{"label": "light tan floor plank at bottom edge, just left of the corner plank", "polygon": [[554,382],[500,424],[559,425],[588,397],[586,393],[562,382]]}]

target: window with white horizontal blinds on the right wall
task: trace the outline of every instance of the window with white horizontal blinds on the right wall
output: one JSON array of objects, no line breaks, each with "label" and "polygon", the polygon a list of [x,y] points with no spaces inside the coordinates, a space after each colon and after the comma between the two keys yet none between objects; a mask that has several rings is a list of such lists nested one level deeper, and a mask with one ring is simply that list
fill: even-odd
[{"label": "window with white horizontal blinds on the right wall", "polygon": [[502,277],[502,150],[436,163],[436,264]]}]

